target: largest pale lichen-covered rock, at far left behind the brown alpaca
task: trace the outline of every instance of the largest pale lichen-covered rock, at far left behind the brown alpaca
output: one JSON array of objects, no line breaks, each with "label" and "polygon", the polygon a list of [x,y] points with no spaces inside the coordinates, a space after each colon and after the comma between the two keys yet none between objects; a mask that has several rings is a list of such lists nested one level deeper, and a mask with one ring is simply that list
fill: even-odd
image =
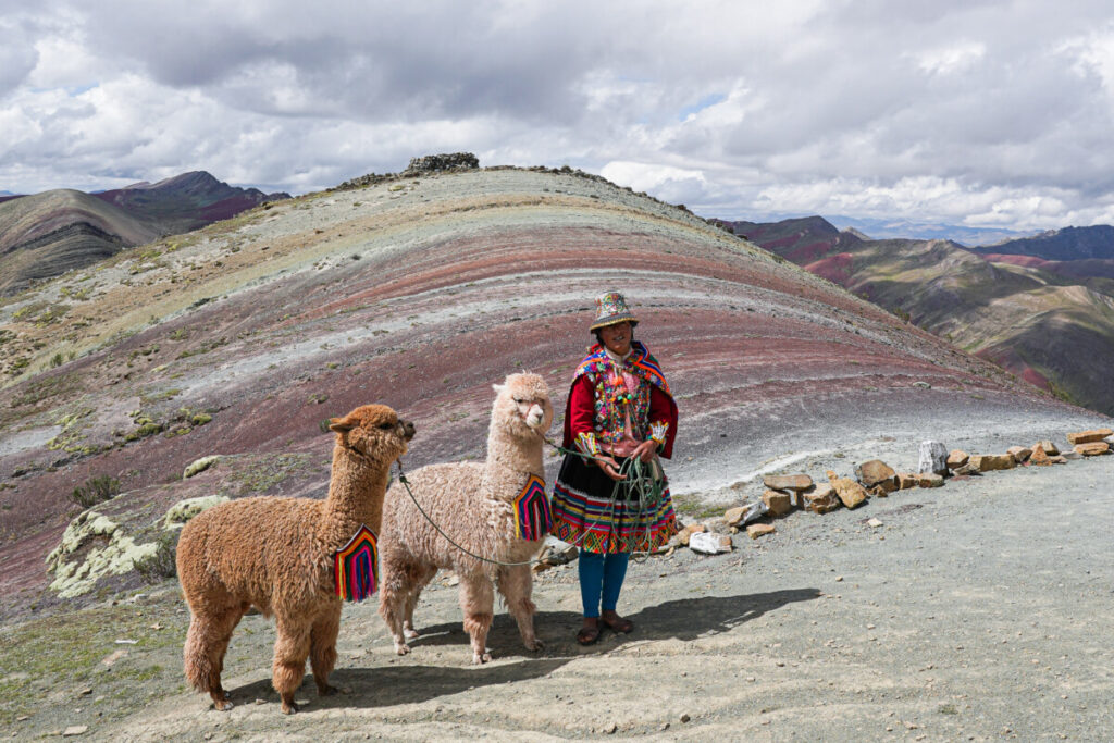
[{"label": "largest pale lichen-covered rock, at far left behind the brown alpaca", "polygon": [[[84,557],[70,559],[89,544],[94,546]],[[102,514],[88,510],[79,515],[62,534],[58,547],[47,556],[47,571],[55,574],[50,589],[61,598],[72,598],[92,590],[104,576],[123,575],[135,569],[158,551],[158,545],[137,545],[124,534],[118,524]]]}]

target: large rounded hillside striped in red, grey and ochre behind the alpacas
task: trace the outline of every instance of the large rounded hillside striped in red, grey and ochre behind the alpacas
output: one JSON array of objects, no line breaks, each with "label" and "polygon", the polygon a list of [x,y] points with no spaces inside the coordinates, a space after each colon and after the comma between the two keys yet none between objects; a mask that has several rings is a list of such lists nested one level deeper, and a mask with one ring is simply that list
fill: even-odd
[{"label": "large rounded hillside striped in red, grey and ochre behind the alpacas", "polygon": [[[786,456],[908,436],[913,419],[947,439],[1097,418],[597,177],[363,180],[123,251],[0,306],[0,613],[59,600],[43,557],[90,478],[119,481],[98,512],[146,544],[183,498],[322,496],[324,422],[358,404],[414,420],[407,467],[482,457],[491,383],[541,373],[564,411],[593,299],[612,289],[676,394],[678,499]],[[211,454],[218,465],[182,478]]]}]

